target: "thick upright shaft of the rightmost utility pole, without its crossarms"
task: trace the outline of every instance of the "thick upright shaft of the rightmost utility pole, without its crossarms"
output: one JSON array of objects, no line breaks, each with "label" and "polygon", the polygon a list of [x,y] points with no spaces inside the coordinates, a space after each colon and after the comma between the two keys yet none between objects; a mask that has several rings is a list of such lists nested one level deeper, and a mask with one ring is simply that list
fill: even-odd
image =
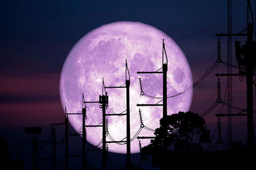
[{"label": "thick upright shaft of the rightmost utility pole, without its crossarms", "polygon": [[253,127],[253,24],[247,25],[247,45],[248,55],[246,55],[246,89],[247,89],[247,131],[248,146],[255,147],[254,127]]}]

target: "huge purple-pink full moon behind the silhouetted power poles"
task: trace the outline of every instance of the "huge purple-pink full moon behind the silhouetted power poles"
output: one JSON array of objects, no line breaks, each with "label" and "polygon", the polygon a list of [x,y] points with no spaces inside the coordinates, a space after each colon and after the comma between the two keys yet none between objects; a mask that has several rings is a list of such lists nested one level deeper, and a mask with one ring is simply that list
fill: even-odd
[{"label": "huge purple-pink full moon behind the silhouetted power poles", "polygon": [[[163,39],[168,57],[167,96],[173,96],[193,83],[186,56],[172,38],[164,32],[140,22],[113,22],[88,32],[68,54],[60,78],[60,96],[63,108],[68,113],[82,113],[82,94],[85,101],[99,101],[102,95],[102,78],[105,86],[120,86],[125,83],[125,59],[131,75],[130,120],[131,138],[140,129],[139,108],[143,124],[150,129],[159,127],[163,117],[161,106],[136,104],[161,104],[161,99],[140,96],[139,78],[143,92],[149,96],[163,97],[163,74],[137,74],[138,71],[161,71]],[[122,113],[126,110],[125,89],[107,89],[109,96],[106,113]],[[167,99],[168,115],[188,111],[193,91]],[[88,103],[86,125],[102,123],[99,103]],[[82,116],[68,115],[72,127],[81,132]],[[108,131],[115,141],[125,140],[126,117],[108,117]],[[94,146],[102,146],[102,127],[86,127],[86,140]],[[143,128],[138,136],[154,136],[153,131]],[[111,141],[109,137],[107,141]],[[141,139],[146,146],[150,139]],[[98,145],[99,144],[99,145]],[[126,145],[108,143],[110,152],[126,153]],[[131,153],[140,152],[139,141],[131,141]]]}]

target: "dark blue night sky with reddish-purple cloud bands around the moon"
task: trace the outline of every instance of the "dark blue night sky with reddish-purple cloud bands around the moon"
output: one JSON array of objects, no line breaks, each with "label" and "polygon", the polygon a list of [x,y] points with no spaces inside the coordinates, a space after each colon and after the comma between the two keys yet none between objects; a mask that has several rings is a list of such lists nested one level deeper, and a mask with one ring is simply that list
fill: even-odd
[{"label": "dark blue night sky with reddish-purple cloud bands around the moon", "polygon": [[[252,6],[254,12],[254,1]],[[233,32],[240,32],[246,28],[246,1],[234,0],[233,11]],[[18,138],[20,143],[24,141],[24,127],[50,131],[51,123],[63,122],[61,68],[72,46],[93,29],[116,21],[143,22],[160,29],[186,55],[194,81],[216,61],[214,34],[227,32],[227,2],[221,0],[4,1],[0,15],[0,134],[8,139],[10,148],[15,148],[12,145],[17,145]],[[222,59],[227,61],[227,39],[221,38],[221,43]],[[195,87],[191,111],[201,115],[215,103],[214,74],[226,70],[227,66],[218,66]],[[223,96],[226,81],[221,78]],[[235,77],[233,82],[233,104],[246,108],[245,80]],[[205,117],[211,136],[217,122],[214,115],[220,110],[221,106]],[[225,140],[226,118],[222,122]],[[233,133],[234,141],[246,144],[245,117],[233,118]]]}]

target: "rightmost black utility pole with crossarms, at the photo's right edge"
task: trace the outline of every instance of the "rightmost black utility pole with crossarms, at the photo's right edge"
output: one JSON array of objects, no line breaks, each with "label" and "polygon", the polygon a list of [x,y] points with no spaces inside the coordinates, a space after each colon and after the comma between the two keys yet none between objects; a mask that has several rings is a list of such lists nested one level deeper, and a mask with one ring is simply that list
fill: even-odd
[{"label": "rightmost black utility pole with crossarms, at the photo's right edge", "polygon": [[[240,41],[235,41],[236,45],[236,59],[239,65],[239,73],[227,73],[227,74],[215,74],[216,76],[245,76],[246,77],[246,99],[247,99],[247,142],[249,148],[255,148],[255,134],[253,124],[253,67],[256,66],[253,62],[253,24],[249,22],[249,18],[252,18],[253,13],[250,0],[247,1],[247,28],[237,34],[216,34],[216,36],[247,36],[247,41],[244,46],[241,46]],[[247,31],[246,33],[243,33]],[[236,116],[236,114],[219,114],[219,116]],[[239,114],[241,115],[241,114]]]}]

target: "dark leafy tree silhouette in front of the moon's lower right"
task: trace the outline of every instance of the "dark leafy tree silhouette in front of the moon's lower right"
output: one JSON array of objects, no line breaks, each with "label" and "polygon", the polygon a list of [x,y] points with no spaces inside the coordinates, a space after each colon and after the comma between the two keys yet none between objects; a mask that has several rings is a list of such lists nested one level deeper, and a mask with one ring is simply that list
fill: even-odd
[{"label": "dark leafy tree silhouette in front of the moon's lower right", "polygon": [[156,129],[156,138],[142,148],[142,155],[156,152],[200,152],[202,144],[210,142],[210,131],[205,127],[204,118],[193,112],[179,112],[161,118]]}]

